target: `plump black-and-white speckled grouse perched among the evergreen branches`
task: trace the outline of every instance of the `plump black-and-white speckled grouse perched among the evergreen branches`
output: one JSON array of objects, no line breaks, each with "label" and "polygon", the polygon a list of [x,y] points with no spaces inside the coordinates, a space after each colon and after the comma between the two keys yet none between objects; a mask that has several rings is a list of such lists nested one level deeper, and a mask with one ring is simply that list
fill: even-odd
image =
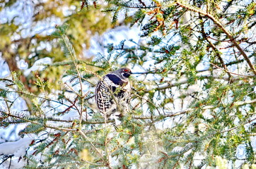
[{"label": "plump black-and-white speckled grouse perched among the evergreen branches", "polygon": [[129,68],[120,68],[104,75],[95,88],[95,102],[98,110],[103,114],[105,122],[114,119],[119,125],[122,116],[129,112],[129,101],[132,87]]}]

